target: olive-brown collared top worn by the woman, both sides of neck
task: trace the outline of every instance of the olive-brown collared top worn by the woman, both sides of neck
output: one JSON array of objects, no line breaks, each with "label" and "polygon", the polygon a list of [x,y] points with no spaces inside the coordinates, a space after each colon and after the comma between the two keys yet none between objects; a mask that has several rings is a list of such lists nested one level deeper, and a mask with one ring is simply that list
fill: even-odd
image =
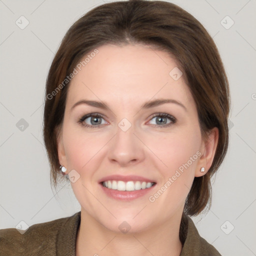
[{"label": "olive-brown collared top worn by the woman, both sides of neck", "polygon": [[[75,256],[81,212],[70,217],[31,225],[23,234],[16,228],[0,229],[0,256]],[[192,219],[182,216],[179,237],[183,244],[180,256],[221,256],[200,237]]]}]

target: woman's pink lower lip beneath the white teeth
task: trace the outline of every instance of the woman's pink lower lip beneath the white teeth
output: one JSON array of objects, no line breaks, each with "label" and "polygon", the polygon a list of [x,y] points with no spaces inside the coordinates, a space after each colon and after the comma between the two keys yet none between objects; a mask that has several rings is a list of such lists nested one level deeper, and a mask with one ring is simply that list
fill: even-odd
[{"label": "woman's pink lower lip beneath the white teeth", "polygon": [[101,183],[99,185],[101,186],[101,188],[103,189],[103,191],[106,193],[107,196],[117,200],[124,200],[124,201],[129,201],[129,200],[133,200],[138,197],[144,196],[146,193],[151,191],[152,187],[155,186],[155,185],[152,185],[149,188],[139,189],[134,191],[119,191],[117,189],[104,187]]}]

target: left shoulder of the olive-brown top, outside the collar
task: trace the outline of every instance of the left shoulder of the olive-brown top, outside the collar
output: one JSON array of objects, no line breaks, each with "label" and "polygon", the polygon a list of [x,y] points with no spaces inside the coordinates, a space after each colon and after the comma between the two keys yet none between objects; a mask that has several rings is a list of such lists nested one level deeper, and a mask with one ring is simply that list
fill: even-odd
[{"label": "left shoulder of the olive-brown top, outside the collar", "polygon": [[43,251],[47,255],[55,253],[58,231],[70,217],[33,224],[22,234],[16,228],[0,229],[0,255],[37,255]]}]

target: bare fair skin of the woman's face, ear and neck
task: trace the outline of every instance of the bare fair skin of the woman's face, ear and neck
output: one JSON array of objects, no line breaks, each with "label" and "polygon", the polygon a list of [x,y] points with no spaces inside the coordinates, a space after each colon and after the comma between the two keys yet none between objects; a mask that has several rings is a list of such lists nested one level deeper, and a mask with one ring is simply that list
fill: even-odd
[{"label": "bare fair skin of the woman's face, ear and neck", "polygon": [[[185,198],[194,176],[204,175],[212,163],[218,130],[213,128],[208,138],[202,139],[195,102],[183,76],[174,80],[169,75],[177,63],[168,53],[140,44],[107,44],[98,50],[69,84],[57,139],[60,164],[67,173],[75,169],[80,175],[70,182],[81,205],[76,254],[179,255]],[[177,100],[185,108],[176,103],[141,108],[159,98]],[[82,99],[104,101],[109,108],[87,104],[72,108]],[[78,122],[88,113],[103,115],[98,127]],[[161,127],[154,113],[170,114],[176,122]],[[127,131],[118,126],[122,118],[131,124]],[[95,125],[92,119],[88,117],[83,123]],[[148,197],[197,151],[200,156],[150,202]],[[110,174],[140,175],[156,180],[156,185],[145,196],[120,201],[99,187],[98,180]],[[123,221],[130,225],[125,234],[118,228]]]}]

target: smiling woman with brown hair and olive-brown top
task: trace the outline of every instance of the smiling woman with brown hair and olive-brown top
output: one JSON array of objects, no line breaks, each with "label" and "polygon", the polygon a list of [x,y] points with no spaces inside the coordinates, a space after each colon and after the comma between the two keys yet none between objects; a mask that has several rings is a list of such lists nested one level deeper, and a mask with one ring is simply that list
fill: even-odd
[{"label": "smiling woman with brown hair and olive-brown top", "polygon": [[51,181],[70,180],[81,211],[0,230],[0,252],[220,255],[189,216],[210,204],[228,113],[218,50],[192,15],[145,0],[90,10],[59,46],[44,105]]}]

